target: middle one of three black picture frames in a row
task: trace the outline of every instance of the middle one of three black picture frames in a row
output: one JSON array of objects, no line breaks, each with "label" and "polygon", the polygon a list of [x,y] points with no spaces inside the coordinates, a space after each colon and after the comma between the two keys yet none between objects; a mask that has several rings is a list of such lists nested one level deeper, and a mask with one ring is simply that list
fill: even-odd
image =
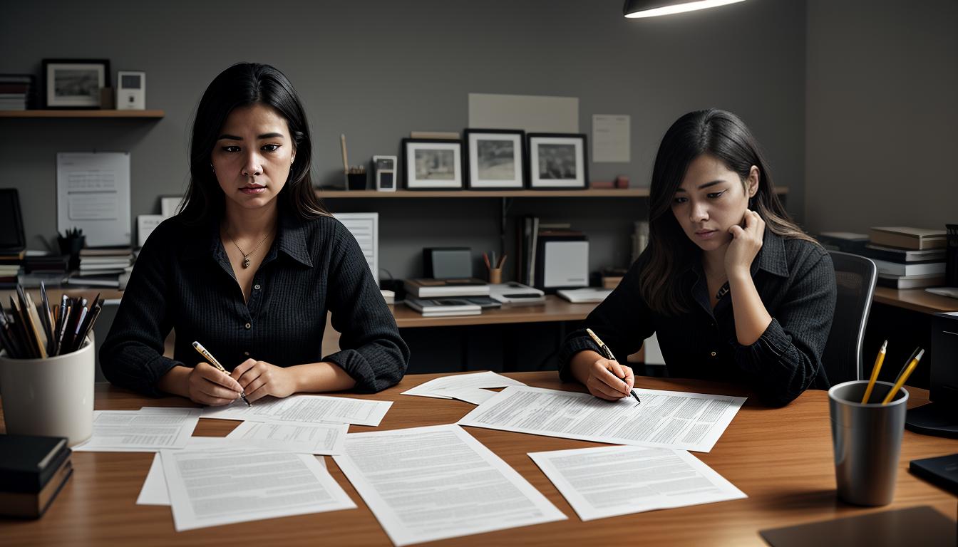
[{"label": "middle one of three black picture frames in a row", "polygon": [[465,170],[469,190],[522,190],[526,187],[526,132],[518,129],[466,129]]}]

